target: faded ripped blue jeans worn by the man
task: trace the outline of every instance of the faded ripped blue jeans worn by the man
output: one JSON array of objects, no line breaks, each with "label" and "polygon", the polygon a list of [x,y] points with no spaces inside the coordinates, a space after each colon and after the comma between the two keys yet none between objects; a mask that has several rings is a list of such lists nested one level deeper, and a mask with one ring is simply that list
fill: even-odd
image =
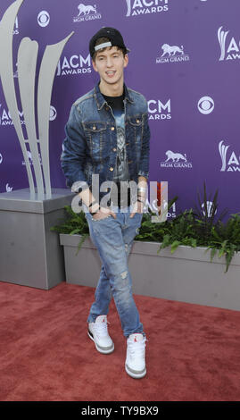
[{"label": "faded ripped blue jeans worn by the man", "polygon": [[103,264],[95,289],[95,302],[90,308],[87,322],[95,322],[98,315],[107,315],[113,297],[123,334],[128,338],[134,332],[145,333],[132,295],[132,279],[128,270],[128,255],[143,214],[136,213],[130,218],[131,207],[127,208],[127,213],[120,213],[120,208],[118,213],[114,212],[116,219],[109,215],[95,220],[92,214],[85,214],[90,238]]}]

